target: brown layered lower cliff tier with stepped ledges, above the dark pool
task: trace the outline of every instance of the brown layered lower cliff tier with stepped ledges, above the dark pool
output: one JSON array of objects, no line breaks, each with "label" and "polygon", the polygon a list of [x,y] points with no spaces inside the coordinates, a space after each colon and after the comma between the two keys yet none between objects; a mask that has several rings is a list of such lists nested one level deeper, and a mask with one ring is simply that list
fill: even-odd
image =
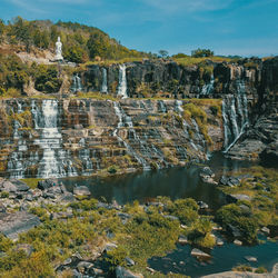
[{"label": "brown layered lower cliff tier with stepped ledges, above the dark pool", "polygon": [[221,148],[221,117],[214,116],[210,103],[200,102],[192,107],[200,116],[186,119],[187,105],[132,99],[2,101],[1,175],[66,177],[205,160],[209,149]]}]

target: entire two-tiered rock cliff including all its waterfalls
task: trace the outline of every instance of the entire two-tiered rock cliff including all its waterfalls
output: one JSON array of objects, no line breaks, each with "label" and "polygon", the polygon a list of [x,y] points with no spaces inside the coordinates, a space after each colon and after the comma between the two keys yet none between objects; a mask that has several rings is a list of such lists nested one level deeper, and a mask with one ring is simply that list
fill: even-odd
[{"label": "entire two-tiered rock cliff including all its waterfalls", "polygon": [[214,150],[277,161],[277,58],[91,66],[76,87],[129,98],[1,100],[1,176],[147,170],[205,160]]}]

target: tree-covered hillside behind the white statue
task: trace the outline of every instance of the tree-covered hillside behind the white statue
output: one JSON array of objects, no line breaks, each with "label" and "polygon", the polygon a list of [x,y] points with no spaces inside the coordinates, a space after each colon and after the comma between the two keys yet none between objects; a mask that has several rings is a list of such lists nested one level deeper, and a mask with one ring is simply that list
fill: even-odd
[{"label": "tree-covered hillside behind the white statue", "polygon": [[0,38],[10,44],[22,44],[29,52],[32,48],[54,48],[58,36],[63,42],[63,56],[67,60],[83,63],[90,59],[122,59],[152,57],[145,52],[130,50],[111,39],[107,33],[95,27],[75,22],[57,22],[49,20],[28,21],[20,17],[0,22]]}]

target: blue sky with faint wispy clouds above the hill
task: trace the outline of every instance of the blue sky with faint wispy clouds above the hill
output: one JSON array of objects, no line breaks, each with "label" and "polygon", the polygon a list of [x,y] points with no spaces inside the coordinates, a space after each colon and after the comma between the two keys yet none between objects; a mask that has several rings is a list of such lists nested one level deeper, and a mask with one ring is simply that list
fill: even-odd
[{"label": "blue sky with faint wispy clouds above the hill", "polygon": [[278,54],[278,0],[0,0],[0,18],[77,21],[142,51]]}]

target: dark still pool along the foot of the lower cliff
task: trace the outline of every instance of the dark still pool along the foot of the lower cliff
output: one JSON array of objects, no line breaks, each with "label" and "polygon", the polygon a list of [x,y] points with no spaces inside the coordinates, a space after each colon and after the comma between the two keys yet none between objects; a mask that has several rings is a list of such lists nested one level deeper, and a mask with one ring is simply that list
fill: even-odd
[{"label": "dark still pool along the foot of the lower cliff", "polygon": [[[228,171],[250,166],[249,162],[225,159],[221,153],[212,156],[207,165],[216,172],[217,179]],[[207,202],[212,210],[218,209],[225,203],[225,196],[215,186],[202,182],[199,172],[199,166],[189,166],[106,178],[75,177],[61,180],[69,190],[75,185],[88,186],[93,198],[108,202],[116,200],[125,205],[133,200],[145,202],[157,196],[168,196],[171,199],[193,198]]]}]

